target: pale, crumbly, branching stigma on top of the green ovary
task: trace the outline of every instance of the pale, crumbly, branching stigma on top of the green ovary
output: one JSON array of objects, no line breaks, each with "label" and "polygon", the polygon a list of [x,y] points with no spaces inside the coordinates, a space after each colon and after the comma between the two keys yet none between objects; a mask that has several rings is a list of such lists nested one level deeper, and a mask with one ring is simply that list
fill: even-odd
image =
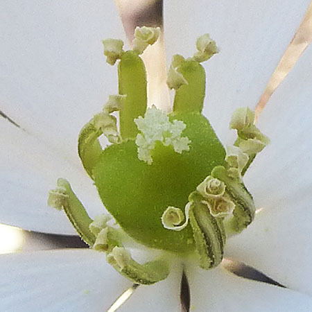
[{"label": "pale, crumbly, branching stigma on top of the green ovary", "polygon": [[173,146],[175,152],[179,154],[189,150],[191,141],[187,137],[181,137],[186,125],[183,121],[169,121],[169,117],[162,110],[157,110],[156,107],[149,108],[144,117],[139,116],[135,119],[135,123],[141,131],[135,141],[140,160],[152,164],[152,151],[156,141],[164,146]]}]

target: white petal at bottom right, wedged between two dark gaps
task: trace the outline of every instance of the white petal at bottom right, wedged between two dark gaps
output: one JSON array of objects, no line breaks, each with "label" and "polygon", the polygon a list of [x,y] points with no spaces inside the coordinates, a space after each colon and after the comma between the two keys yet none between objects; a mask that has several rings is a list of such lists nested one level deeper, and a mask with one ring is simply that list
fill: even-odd
[{"label": "white petal at bottom right, wedged between two dark gaps", "polygon": [[190,311],[275,312],[312,309],[309,296],[286,288],[237,277],[223,268],[187,270],[191,292]]}]

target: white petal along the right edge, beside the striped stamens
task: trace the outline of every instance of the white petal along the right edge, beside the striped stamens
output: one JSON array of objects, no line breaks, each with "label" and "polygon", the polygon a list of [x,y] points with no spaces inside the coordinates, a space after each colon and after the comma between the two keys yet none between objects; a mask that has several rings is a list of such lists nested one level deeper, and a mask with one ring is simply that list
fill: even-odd
[{"label": "white petal along the right edge, beside the striped stamens", "polygon": [[245,175],[257,207],[254,223],[227,242],[227,255],[295,290],[312,294],[312,49],[263,110],[271,144]]}]

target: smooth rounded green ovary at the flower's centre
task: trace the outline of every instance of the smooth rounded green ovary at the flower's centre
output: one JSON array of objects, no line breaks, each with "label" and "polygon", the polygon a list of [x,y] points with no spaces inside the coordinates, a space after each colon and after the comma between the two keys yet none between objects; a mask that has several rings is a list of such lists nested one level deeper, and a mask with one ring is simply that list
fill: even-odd
[{"label": "smooth rounded green ovary at the flower's centre", "polygon": [[199,112],[171,114],[173,119],[187,125],[182,135],[191,140],[188,152],[157,143],[153,163],[146,164],[129,139],[103,150],[93,174],[101,200],[125,232],[148,247],[183,253],[195,248],[191,226],[165,229],[162,214],[168,206],[184,209],[198,184],[225,164],[225,150]]}]

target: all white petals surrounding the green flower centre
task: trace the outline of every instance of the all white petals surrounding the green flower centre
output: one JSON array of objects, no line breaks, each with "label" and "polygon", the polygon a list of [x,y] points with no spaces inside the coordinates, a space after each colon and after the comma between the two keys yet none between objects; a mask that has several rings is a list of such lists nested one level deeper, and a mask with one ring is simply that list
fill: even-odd
[{"label": "all white petals surrounding the green flower centre", "polygon": [[[86,119],[116,93],[101,40],[122,37],[116,33],[122,26],[112,1],[1,4],[1,110],[19,127],[0,120],[0,221],[73,234],[67,218],[46,207],[46,196],[62,175],[92,217],[103,211],[76,141]],[[256,105],[309,1],[165,4],[168,49],[192,55],[195,38],[206,31],[220,46],[218,58],[206,65],[205,115],[223,144],[232,144],[230,114]],[[311,56],[310,48],[261,114],[258,125],[271,144],[246,173],[245,184],[263,210],[226,248],[227,257],[288,288],[186,263],[191,311],[312,309]],[[7,255],[0,261],[1,311],[105,311],[131,286],[92,250]],[[180,311],[181,272],[176,265],[164,281],[139,286],[121,311]]]}]

